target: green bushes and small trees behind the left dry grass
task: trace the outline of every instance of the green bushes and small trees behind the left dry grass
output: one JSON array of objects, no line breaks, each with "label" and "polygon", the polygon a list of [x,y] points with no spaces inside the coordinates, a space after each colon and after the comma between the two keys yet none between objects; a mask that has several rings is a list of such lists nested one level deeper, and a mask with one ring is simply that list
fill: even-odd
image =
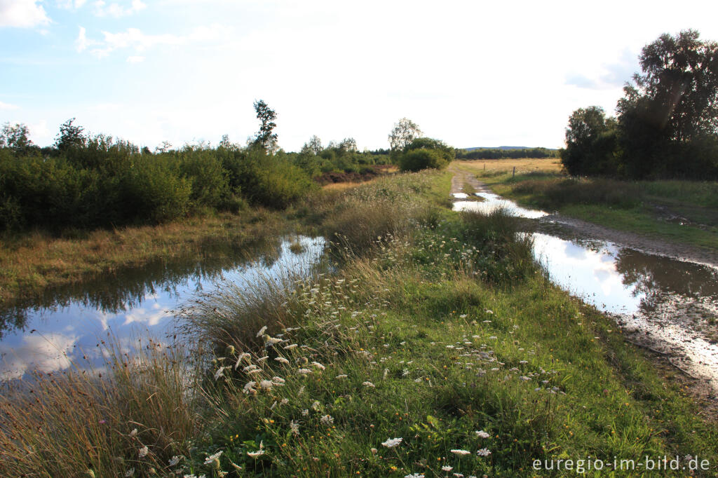
[{"label": "green bushes and small trees behind the left dry grass", "polygon": [[254,103],[259,131],[246,145],[223,136],[217,146],[165,141],[155,151],[103,134],[90,135],[75,118],[55,144],[40,148],[27,126],[0,131],[0,231],[108,228],[164,222],[247,207],[283,209],[317,189],[322,174],[441,168],[454,158],[442,141],[421,137],[406,118],[389,135],[391,149],[358,151],[352,138],[323,146],[312,136],[299,152],[279,149],[276,113]]}]

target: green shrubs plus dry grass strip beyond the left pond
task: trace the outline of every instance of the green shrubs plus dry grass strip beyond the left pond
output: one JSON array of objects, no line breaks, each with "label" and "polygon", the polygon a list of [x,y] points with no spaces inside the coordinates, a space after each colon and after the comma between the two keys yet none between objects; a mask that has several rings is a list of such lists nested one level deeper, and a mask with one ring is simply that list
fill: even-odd
[{"label": "green shrubs plus dry grass strip beyond the left pond", "polygon": [[[358,151],[351,138],[299,152],[278,149],[276,113],[255,103],[259,131],[241,146],[165,142],[154,151],[70,119],[53,146],[29,140],[27,126],[0,132],[0,302],[155,258],[205,253],[289,228],[313,227],[307,204],[320,185],[362,181],[404,169],[442,168],[454,150],[399,121],[391,150]],[[413,123],[412,123],[413,124]],[[414,143],[416,141],[416,143]],[[411,156],[405,159],[405,156]],[[294,226],[292,226],[294,227]]]}]

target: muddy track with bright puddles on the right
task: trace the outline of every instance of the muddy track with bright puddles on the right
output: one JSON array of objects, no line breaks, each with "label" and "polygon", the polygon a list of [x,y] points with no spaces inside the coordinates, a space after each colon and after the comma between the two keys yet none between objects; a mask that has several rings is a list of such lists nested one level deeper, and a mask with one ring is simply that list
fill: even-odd
[{"label": "muddy track with bright puddles on the right", "polygon": [[[475,192],[461,192],[469,184]],[[686,374],[718,391],[718,267],[647,253],[621,243],[588,239],[544,211],[526,210],[486,191],[474,177],[452,182],[454,210],[498,208],[541,219],[531,233],[534,254],[551,279],[589,304],[614,314],[630,341],[666,357]],[[472,200],[467,200],[472,199]],[[580,237],[579,237],[580,236]],[[701,385],[699,383],[698,385]]]}]

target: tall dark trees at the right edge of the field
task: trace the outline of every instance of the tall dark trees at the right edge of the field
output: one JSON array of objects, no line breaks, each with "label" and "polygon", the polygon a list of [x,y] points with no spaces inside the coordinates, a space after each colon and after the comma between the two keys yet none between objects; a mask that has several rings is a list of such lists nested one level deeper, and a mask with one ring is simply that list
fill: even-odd
[{"label": "tall dark trees at the right edge of the field", "polygon": [[718,44],[699,37],[684,30],[643,47],[616,116],[572,113],[561,150],[569,174],[718,179]]}]

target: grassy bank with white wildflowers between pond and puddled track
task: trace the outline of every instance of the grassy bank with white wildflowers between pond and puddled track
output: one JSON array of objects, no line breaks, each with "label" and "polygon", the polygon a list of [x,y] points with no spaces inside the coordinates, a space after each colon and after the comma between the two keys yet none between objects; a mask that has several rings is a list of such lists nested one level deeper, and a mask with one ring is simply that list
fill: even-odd
[{"label": "grassy bank with white wildflowers between pond and puddled track", "polygon": [[697,476],[717,476],[714,423],[549,283],[512,218],[442,207],[449,180],[402,175],[339,197],[320,222],[335,273],[187,311],[189,342],[213,355],[108,353],[120,360],[104,383],[131,393],[70,369],[19,402],[4,394],[0,474],[531,477],[567,474],[534,460],[690,454],[709,461]]}]

